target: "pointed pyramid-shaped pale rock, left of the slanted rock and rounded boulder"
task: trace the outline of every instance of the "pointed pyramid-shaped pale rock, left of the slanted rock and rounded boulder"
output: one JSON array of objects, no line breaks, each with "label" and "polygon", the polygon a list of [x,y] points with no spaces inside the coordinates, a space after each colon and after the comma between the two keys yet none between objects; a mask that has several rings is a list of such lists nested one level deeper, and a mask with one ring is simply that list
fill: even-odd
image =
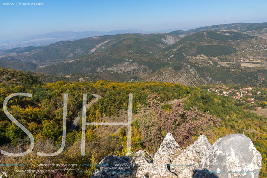
[{"label": "pointed pyramid-shaped pale rock, left of the slanted rock and rounded boulder", "polygon": [[171,162],[181,154],[182,149],[174,140],[171,133],[167,133],[160,148],[153,156],[154,164],[171,164]]}]

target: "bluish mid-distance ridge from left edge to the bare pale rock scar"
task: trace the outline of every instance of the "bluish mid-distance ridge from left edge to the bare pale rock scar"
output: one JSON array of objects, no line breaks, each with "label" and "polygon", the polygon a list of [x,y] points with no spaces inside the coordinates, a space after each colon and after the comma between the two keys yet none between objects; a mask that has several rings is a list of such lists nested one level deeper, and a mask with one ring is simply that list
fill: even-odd
[{"label": "bluish mid-distance ridge from left edge to the bare pale rock scar", "polygon": [[[170,37],[171,40],[168,40]],[[135,40],[135,42],[131,42],[130,38]],[[110,50],[111,47],[120,47],[127,45],[127,43],[128,46],[135,45],[133,50],[139,51],[139,54],[146,53],[146,55],[148,55],[147,53],[159,51],[162,47],[172,44],[179,39],[181,38],[164,34],[95,36],[75,41],[60,41],[41,47],[14,48],[0,52],[0,58],[11,61],[28,61],[43,65],[57,61],[68,61],[103,50],[112,51],[114,53],[114,50]]]}]

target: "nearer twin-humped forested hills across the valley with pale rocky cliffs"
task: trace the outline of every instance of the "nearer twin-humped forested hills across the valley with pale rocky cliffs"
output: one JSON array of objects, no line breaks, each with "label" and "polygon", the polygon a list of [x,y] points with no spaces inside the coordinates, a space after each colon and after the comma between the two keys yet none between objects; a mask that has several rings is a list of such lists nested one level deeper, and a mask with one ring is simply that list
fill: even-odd
[{"label": "nearer twin-humped forested hills across the valley with pale rocky cliffs", "polygon": [[135,40],[128,38],[79,60],[45,66],[37,71],[65,76],[110,71],[118,76],[131,76],[135,81],[179,82],[191,86],[217,83],[256,86],[264,84],[267,77],[266,41],[257,36],[233,31],[201,31],[158,52],[142,47],[142,41],[136,45],[138,40]]}]

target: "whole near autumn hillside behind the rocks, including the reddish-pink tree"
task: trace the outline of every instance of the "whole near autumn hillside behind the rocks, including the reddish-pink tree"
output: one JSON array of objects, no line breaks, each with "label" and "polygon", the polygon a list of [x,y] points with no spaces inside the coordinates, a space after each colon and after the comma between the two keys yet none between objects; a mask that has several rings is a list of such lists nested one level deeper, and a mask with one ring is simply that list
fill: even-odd
[{"label": "whole near autumn hillside behind the rocks, including the reddish-pink tree", "polygon": [[[11,122],[4,114],[4,99],[16,92],[31,93],[29,97],[13,97],[7,109],[35,139],[35,147],[31,153],[22,157],[2,155],[1,163],[23,164],[3,166],[3,171],[12,177],[89,177],[95,165],[110,154],[125,155],[125,128],[116,134],[109,132],[109,126],[86,126],[85,156],[81,156],[81,130],[70,129],[73,120],[82,107],[82,94],[87,93],[87,102],[93,98],[90,94],[101,97],[96,104],[86,111],[87,122],[104,122],[105,118],[120,118],[128,109],[128,94],[133,94],[133,118],[131,151],[146,149],[153,153],[166,133],[176,135],[182,147],[192,143],[199,134],[204,133],[213,143],[229,133],[244,133],[250,137],[262,155],[261,177],[267,176],[267,127],[266,118],[245,111],[236,106],[233,98],[218,96],[196,87],[186,87],[168,82],[112,82],[99,80],[96,82],[56,82],[42,83],[29,73],[0,68],[0,140],[1,150],[23,152],[28,149],[30,140],[27,135]],[[53,153],[62,141],[63,94],[68,94],[66,145],[59,155],[53,157],[37,156],[36,151]],[[190,95],[189,95],[190,94]],[[174,99],[185,100],[168,104]],[[153,101],[153,102],[151,102]],[[143,113],[146,113],[144,115]],[[170,117],[171,116],[171,117]],[[174,117],[173,117],[174,116]],[[201,119],[202,118],[202,119]],[[204,119],[203,119],[204,118]],[[148,122],[146,120],[149,119]],[[111,121],[112,122],[112,121]],[[188,123],[199,123],[188,124]],[[146,123],[142,124],[142,123]],[[183,132],[184,126],[188,127]],[[119,128],[119,126],[118,126]],[[99,131],[106,134],[98,134]],[[183,132],[183,135],[179,133]],[[153,134],[151,134],[153,133]],[[146,137],[149,136],[151,140]],[[46,167],[38,164],[77,164],[66,167]],[[87,165],[83,165],[87,164]],[[15,170],[55,170],[51,173],[25,173]],[[68,167],[70,168],[70,167]],[[77,172],[78,171],[78,172]],[[80,172],[79,172],[80,171]],[[84,171],[84,172],[83,172]]]}]

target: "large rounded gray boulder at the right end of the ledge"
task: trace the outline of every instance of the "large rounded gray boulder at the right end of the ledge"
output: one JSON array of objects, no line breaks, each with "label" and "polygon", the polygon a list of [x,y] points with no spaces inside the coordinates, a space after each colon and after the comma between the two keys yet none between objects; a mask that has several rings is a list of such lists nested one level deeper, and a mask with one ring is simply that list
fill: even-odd
[{"label": "large rounded gray boulder at the right end of the ledge", "polygon": [[194,178],[258,178],[261,154],[250,138],[243,134],[230,134],[212,145],[208,153],[202,157],[199,169]]}]

